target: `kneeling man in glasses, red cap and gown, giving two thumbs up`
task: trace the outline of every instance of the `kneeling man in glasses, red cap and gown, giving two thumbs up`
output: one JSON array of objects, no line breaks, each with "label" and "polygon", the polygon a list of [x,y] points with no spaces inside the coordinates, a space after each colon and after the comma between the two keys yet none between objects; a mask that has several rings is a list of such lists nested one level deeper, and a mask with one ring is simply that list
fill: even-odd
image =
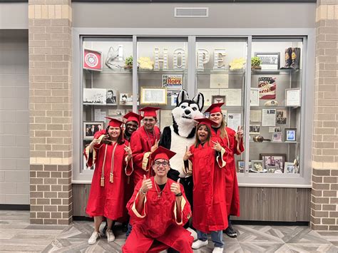
[{"label": "kneeling man in glasses, red cap and gown, giving two thumbs up", "polygon": [[140,180],[128,202],[130,217],[135,219],[123,252],[160,252],[171,247],[193,252],[193,237],[182,226],[191,216],[183,185],[167,177],[169,160],[175,153],[159,147],[150,155],[155,177]]}]

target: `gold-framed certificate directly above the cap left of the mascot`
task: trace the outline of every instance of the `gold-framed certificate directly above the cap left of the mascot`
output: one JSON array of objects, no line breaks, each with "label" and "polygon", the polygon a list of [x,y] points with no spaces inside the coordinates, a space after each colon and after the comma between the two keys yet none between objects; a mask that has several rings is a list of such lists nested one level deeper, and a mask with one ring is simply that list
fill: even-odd
[{"label": "gold-framed certificate directly above the cap left of the mascot", "polygon": [[145,88],[141,87],[140,92],[141,105],[166,105],[167,104],[167,89],[161,87]]}]

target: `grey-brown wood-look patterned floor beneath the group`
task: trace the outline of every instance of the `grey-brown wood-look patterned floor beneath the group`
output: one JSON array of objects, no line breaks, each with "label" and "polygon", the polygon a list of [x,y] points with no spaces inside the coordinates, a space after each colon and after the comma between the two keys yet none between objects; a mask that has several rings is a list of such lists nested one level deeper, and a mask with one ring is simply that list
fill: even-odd
[{"label": "grey-brown wood-look patterned floor beneath the group", "polygon": [[[299,226],[234,227],[238,237],[224,236],[225,252],[338,252],[338,232],[315,232]],[[93,222],[31,225],[29,212],[0,211],[0,252],[121,252],[126,236],[120,229],[115,231],[116,241],[109,244],[102,237],[88,245],[91,232]],[[212,242],[194,252],[212,252]]]}]

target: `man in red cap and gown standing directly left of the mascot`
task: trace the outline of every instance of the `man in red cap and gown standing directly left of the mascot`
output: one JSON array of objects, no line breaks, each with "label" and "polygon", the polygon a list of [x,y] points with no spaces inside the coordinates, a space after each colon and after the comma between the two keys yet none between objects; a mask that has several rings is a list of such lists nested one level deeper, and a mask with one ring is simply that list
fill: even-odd
[{"label": "man in red cap and gown standing directly left of the mascot", "polygon": [[143,180],[143,175],[148,175],[148,158],[160,141],[160,128],[157,123],[156,110],[158,107],[145,107],[139,111],[143,112],[143,126],[138,128],[130,138],[130,147],[133,150],[133,182],[136,185]]}]

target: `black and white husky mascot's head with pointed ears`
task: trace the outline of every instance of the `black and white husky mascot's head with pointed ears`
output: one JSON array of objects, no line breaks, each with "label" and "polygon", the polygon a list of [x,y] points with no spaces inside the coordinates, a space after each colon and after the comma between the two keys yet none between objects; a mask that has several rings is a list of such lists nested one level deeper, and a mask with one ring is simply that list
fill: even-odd
[{"label": "black and white husky mascot's head with pointed ears", "polygon": [[195,135],[194,118],[203,118],[204,97],[202,93],[189,99],[185,90],[178,93],[176,107],[172,110],[173,128],[175,133],[185,138]]}]

